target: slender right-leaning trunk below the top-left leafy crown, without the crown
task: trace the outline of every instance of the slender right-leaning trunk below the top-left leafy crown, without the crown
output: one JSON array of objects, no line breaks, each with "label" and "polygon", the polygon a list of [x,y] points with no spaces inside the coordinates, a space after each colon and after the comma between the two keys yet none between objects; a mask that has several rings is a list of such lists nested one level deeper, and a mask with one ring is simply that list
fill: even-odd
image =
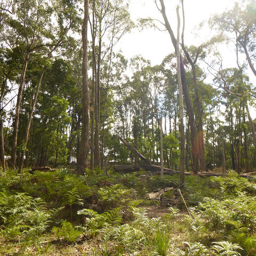
[{"label": "slender right-leaning trunk below the top-left leafy crown, without the crown", "polygon": [[22,93],[25,85],[25,77],[26,77],[26,71],[28,67],[28,61],[29,61],[29,54],[26,55],[22,74],[20,78],[20,84],[19,84],[19,91],[17,95],[17,103],[15,108],[15,116],[14,116],[14,122],[13,122],[13,137],[12,137],[12,151],[11,151],[11,165],[12,167],[16,166],[16,152],[17,152],[17,138],[18,138],[18,129],[19,129],[19,117],[20,117],[20,106],[21,106],[21,100],[22,100]]}]

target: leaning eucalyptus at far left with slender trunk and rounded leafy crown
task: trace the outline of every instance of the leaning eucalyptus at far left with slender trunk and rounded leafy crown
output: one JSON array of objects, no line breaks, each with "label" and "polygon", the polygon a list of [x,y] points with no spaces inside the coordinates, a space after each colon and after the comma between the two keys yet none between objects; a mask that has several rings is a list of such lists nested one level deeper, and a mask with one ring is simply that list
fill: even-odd
[{"label": "leaning eucalyptus at far left with slender trunk and rounded leafy crown", "polygon": [[26,71],[29,60],[33,54],[43,49],[51,41],[53,7],[47,1],[24,0],[14,1],[10,15],[4,22],[4,33],[1,35],[2,42],[14,49],[17,47],[22,62],[22,72],[19,81],[19,91],[13,122],[13,142],[11,152],[12,165],[16,164],[17,137],[19,127],[19,114],[22,93],[25,85]]}]

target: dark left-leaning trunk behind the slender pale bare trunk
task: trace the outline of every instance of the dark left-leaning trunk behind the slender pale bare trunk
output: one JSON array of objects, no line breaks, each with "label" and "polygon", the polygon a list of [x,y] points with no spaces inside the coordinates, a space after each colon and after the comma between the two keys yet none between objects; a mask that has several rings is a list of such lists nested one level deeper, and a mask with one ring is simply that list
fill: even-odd
[{"label": "dark left-leaning trunk behind the slender pale bare trunk", "polygon": [[[173,34],[172,28],[170,26],[169,20],[167,19],[166,13],[165,13],[165,5],[164,0],[159,0],[161,3],[161,9],[159,9],[163,15],[165,27],[167,31],[169,32],[169,35],[171,37],[172,44],[174,46],[175,52],[177,47],[177,40]],[[192,147],[192,170],[194,173],[197,173],[199,170],[199,150],[198,150],[198,143],[197,143],[197,130],[196,130],[196,123],[195,123],[195,117],[194,117],[194,110],[191,103],[189,90],[188,90],[188,84],[186,80],[186,71],[183,65],[183,60],[180,55],[180,74],[181,74],[181,83],[182,83],[182,90],[183,94],[185,96],[185,101],[187,105],[187,114],[189,117],[189,126],[191,129],[191,147]]]}]

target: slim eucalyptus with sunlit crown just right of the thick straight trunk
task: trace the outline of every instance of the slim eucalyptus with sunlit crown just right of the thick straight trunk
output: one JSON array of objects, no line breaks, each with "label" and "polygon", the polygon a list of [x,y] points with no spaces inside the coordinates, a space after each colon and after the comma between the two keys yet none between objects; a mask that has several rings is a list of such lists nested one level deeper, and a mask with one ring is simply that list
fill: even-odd
[{"label": "slim eucalyptus with sunlit crown just right of the thick straight trunk", "polygon": [[[134,26],[128,12],[128,1],[126,0],[94,0],[92,3],[92,20],[90,19],[92,31],[92,53],[93,53],[93,74],[95,78],[94,93],[94,166],[100,166],[100,91],[106,90],[104,108],[107,101],[109,89],[109,78],[105,85],[101,84],[101,65],[108,55],[108,72],[110,77],[111,62],[113,59],[113,47],[119,42],[122,36],[129,32]],[[104,120],[103,120],[104,121]]]}]

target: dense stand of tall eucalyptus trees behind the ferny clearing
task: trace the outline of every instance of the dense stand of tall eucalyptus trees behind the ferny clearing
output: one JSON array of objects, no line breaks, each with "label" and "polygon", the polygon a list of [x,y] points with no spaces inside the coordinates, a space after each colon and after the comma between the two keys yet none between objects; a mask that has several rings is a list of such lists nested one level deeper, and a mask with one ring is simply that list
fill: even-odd
[{"label": "dense stand of tall eucalyptus trees behind the ferny clearing", "polygon": [[[23,165],[75,164],[84,145],[83,159],[87,159],[84,167],[103,168],[104,162],[136,162],[138,159],[118,136],[151,162],[159,163],[161,123],[164,164],[178,169],[179,91],[176,49],[171,45],[176,42],[177,28],[169,23],[164,1],[155,2],[163,17],[160,22],[154,17],[132,21],[126,0],[90,1],[89,19],[83,27],[87,29],[87,37],[82,40],[83,3],[2,0],[3,169],[4,163],[18,166],[20,171]],[[181,4],[180,14],[185,20]],[[187,171],[222,167],[241,173],[253,171],[256,166],[255,121],[251,117],[255,87],[250,82],[256,76],[255,14],[255,3],[241,1],[234,3],[233,9],[209,19],[209,31],[215,31],[209,41],[195,46],[181,35]],[[171,36],[170,54],[161,64],[152,66],[141,55],[126,59],[121,51],[116,51],[126,33],[146,27],[162,29],[161,26],[167,30],[163,33]],[[83,45],[85,41],[87,45]],[[237,63],[230,68],[222,64],[225,54],[219,49],[223,44],[228,44],[237,57]],[[84,141],[81,144],[85,123],[82,100],[85,46],[90,131],[86,133],[87,144]],[[10,159],[4,161],[4,156]]]}]

